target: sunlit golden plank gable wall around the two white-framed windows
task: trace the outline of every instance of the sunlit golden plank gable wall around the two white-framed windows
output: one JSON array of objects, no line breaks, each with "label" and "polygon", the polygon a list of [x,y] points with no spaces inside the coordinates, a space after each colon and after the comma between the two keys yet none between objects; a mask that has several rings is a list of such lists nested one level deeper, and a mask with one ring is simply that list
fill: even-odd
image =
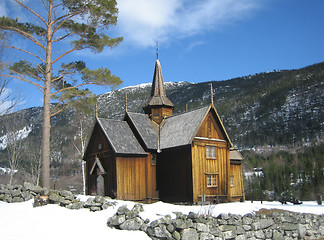
[{"label": "sunlit golden plank gable wall around the two white-framed windows", "polygon": [[[192,144],[193,202],[201,201],[203,194],[207,199],[216,197],[221,201],[229,200],[229,144],[215,114],[209,112],[201,124]],[[216,147],[216,158],[207,158],[206,146]],[[217,186],[207,186],[207,175],[217,175]]]}]

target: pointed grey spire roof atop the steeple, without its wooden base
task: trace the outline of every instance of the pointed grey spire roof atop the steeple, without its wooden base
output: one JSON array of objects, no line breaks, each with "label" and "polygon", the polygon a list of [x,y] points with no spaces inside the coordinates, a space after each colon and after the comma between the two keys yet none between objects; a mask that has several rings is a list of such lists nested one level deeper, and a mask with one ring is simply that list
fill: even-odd
[{"label": "pointed grey spire roof atop the steeple, without its wooden base", "polygon": [[155,70],[152,82],[150,98],[144,108],[149,106],[174,107],[173,103],[167,98],[164,88],[162,68],[159,59],[156,59]]}]

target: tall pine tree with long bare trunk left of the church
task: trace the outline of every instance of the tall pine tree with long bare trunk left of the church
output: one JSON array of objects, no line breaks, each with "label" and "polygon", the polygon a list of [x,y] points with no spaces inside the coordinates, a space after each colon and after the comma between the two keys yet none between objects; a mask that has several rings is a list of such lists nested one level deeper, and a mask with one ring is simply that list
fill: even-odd
[{"label": "tall pine tree with long bare trunk left of the church", "polygon": [[[67,61],[75,51],[99,53],[115,47],[121,37],[111,38],[106,30],[117,23],[115,0],[14,0],[24,11],[17,17],[1,17],[0,29],[15,36],[3,47],[19,56],[4,77],[14,77],[40,90],[44,96],[42,125],[42,186],[50,187],[50,119],[67,106],[84,106],[94,97],[84,86],[117,86],[121,80],[107,68],[91,70],[83,61]],[[19,40],[25,45],[19,45]],[[70,41],[70,45],[67,41]],[[64,49],[64,50],[62,50]],[[51,105],[51,103],[55,103]]]}]

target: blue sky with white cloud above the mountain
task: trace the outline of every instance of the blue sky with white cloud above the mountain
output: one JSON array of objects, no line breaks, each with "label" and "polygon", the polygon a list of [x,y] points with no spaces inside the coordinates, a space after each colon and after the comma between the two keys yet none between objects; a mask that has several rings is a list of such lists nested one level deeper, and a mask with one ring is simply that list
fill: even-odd
[{"label": "blue sky with white cloud above the mountain", "polygon": [[[29,0],[31,1],[31,0]],[[0,0],[0,15],[19,14]],[[323,0],[117,0],[119,18],[108,34],[114,49],[74,54],[90,68],[108,67],[120,87],[151,82],[159,42],[164,81],[204,82],[324,61]],[[32,86],[14,81],[23,108],[42,105]],[[91,88],[96,93],[109,88]]]}]

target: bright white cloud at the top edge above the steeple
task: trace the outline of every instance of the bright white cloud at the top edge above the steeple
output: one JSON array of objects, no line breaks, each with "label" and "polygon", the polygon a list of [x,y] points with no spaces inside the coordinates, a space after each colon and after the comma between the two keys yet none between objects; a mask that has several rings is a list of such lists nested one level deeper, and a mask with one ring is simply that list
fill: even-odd
[{"label": "bright white cloud at the top edge above the steeple", "polygon": [[257,0],[118,0],[118,31],[124,41],[152,46],[215,30],[257,8]]}]

